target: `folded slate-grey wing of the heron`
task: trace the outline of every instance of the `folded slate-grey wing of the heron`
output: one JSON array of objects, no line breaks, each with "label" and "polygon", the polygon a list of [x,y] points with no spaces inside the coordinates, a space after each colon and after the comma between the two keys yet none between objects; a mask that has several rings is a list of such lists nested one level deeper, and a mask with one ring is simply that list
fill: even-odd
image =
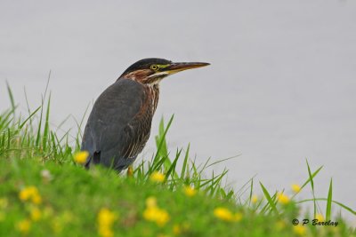
[{"label": "folded slate-grey wing of the heron", "polygon": [[[112,158],[129,158],[139,133],[140,110],[146,93],[142,84],[120,79],[95,101],[85,126],[82,150],[100,153],[101,163],[110,166]],[[137,155],[137,154],[135,154]],[[117,161],[116,161],[117,162]]]}]

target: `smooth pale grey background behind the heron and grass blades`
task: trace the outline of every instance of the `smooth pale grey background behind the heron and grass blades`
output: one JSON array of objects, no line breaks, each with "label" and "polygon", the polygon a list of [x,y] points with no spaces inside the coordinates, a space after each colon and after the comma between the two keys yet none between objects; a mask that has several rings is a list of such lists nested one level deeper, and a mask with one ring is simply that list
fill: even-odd
[{"label": "smooth pale grey background behind the heron and grass blades", "polygon": [[355,1],[0,2],[1,110],[5,80],[34,108],[52,70],[53,127],[80,118],[148,57],[212,64],[161,84],[152,134],[175,114],[173,152],[190,142],[198,162],[241,154],[214,169],[228,166],[238,187],[257,174],[271,191],[303,182],[308,158],[324,165],[317,194],[334,178],[334,198],[356,209]]}]

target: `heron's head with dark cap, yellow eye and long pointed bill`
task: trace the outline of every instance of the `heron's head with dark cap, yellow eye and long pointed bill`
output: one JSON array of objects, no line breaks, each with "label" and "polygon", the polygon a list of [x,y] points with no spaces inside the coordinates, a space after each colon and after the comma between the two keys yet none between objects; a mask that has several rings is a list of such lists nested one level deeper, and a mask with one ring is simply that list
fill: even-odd
[{"label": "heron's head with dark cap, yellow eye and long pointed bill", "polygon": [[209,64],[206,62],[172,62],[155,58],[142,59],[128,67],[118,79],[127,78],[143,84],[156,84],[167,75],[207,65]]}]

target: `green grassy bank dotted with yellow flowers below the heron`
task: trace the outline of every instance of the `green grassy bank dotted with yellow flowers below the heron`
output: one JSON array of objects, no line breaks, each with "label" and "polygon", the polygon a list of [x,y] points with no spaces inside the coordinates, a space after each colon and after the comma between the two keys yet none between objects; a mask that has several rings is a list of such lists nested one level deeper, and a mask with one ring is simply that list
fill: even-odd
[{"label": "green grassy bank dotted with yellow flowers below the heron", "polygon": [[[312,170],[306,162],[308,177],[298,189],[310,187],[311,199],[271,193],[262,182],[254,186],[254,178],[234,190],[223,185],[228,170],[207,176],[214,162],[197,164],[190,146],[168,151],[172,117],[160,123],[157,152],[135,163],[132,177],[101,167],[85,170],[74,162],[83,120],[74,140],[69,131],[59,136],[49,125],[50,95],[44,93],[41,106],[23,117],[8,91],[11,107],[0,114],[0,236],[356,236],[332,212],[339,206],[356,215],[333,200],[332,180],[328,196],[315,197],[322,167]],[[301,214],[305,202],[312,209]],[[292,225],[308,217],[309,225]],[[313,218],[338,225],[312,225]]]}]

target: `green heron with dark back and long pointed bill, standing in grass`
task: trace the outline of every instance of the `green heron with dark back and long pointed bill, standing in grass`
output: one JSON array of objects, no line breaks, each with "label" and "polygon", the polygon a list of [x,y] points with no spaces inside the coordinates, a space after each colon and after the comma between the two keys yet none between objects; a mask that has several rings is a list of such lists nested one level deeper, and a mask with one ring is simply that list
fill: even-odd
[{"label": "green heron with dark back and long pointed bill, standing in grass", "polygon": [[118,172],[129,167],[150,137],[159,82],[167,75],[207,65],[142,59],[128,67],[94,103],[81,147],[89,152],[85,167],[100,163]]}]

